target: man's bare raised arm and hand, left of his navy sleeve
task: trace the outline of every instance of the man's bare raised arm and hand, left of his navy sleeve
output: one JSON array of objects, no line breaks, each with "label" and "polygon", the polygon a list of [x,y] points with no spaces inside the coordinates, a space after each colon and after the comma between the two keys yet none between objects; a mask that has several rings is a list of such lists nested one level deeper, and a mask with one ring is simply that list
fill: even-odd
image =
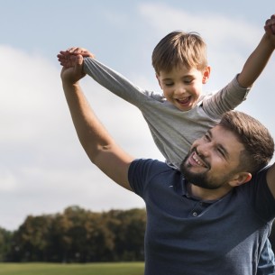
[{"label": "man's bare raised arm and hand, left of his navy sleeve", "polygon": [[77,56],[76,59],[74,67],[63,67],[61,79],[78,139],[89,159],[100,170],[122,187],[131,190],[128,169],[133,157],[115,143],[88,105],[78,83],[78,80],[84,77],[82,73],[83,58]]}]

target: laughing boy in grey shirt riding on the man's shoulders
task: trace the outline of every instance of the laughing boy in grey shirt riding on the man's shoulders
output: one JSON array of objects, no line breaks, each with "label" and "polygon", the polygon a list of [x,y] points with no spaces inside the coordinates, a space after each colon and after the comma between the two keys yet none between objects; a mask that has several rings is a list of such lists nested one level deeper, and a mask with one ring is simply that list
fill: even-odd
[{"label": "laughing boy in grey shirt riding on the man's shoulders", "polygon": [[115,95],[136,105],[151,130],[154,142],[168,165],[179,169],[182,156],[194,140],[217,124],[220,117],[246,99],[253,82],[260,76],[275,47],[274,15],[242,72],[213,95],[203,95],[202,86],[210,76],[206,44],[196,33],[171,32],[155,47],[152,65],[163,96],[139,87],[107,68],[82,48],[60,51],[61,65],[70,66],[70,54],[86,57],[84,72]]}]

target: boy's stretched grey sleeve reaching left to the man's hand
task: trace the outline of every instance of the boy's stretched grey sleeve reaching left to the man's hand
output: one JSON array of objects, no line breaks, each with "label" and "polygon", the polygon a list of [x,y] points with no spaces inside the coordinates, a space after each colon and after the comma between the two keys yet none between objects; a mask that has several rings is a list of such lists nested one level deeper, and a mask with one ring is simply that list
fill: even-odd
[{"label": "boy's stretched grey sleeve reaching left to the man's hand", "polygon": [[116,96],[124,98],[124,100],[137,107],[142,105],[148,98],[148,92],[136,87],[123,75],[95,59],[84,59],[84,72]]}]

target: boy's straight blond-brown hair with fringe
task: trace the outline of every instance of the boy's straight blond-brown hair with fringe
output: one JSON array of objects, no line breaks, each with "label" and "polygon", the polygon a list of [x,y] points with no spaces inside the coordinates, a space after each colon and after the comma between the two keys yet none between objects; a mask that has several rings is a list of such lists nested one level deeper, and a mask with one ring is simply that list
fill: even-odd
[{"label": "boy's straight blond-brown hair with fringe", "polygon": [[203,70],[207,66],[206,43],[197,32],[170,32],[153,50],[151,61],[158,75],[160,70],[170,72],[182,65]]}]

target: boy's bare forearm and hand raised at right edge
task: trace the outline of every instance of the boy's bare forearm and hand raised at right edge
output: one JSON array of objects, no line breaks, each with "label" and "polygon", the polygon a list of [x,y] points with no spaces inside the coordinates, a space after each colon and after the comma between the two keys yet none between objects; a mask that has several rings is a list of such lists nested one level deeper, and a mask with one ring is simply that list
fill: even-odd
[{"label": "boy's bare forearm and hand raised at right edge", "polygon": [[241,87],[252,87],[261,75],[275,48],[275,15],[273,14],[264,26],[265,33],[257,48],[246,60],[242,72],[238,76]]}]

